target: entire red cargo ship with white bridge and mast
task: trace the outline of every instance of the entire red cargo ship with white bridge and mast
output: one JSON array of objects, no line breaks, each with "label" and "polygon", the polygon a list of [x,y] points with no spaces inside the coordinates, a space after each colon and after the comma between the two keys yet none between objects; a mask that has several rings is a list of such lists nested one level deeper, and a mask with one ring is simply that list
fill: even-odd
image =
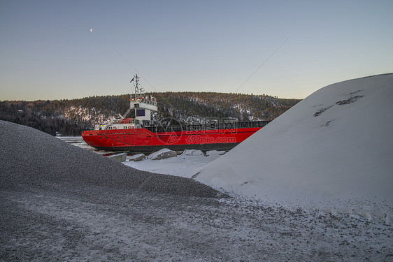
[{"label": "entire red cargo ship with white bridge and mast", "polygon": [[[152,124],[151,112],[157,112],[157,100],[143,94],[138,87],[138,75],[133,80],[135,94],[131,94],[127,112],[110,124],[83,131],[83,140],[88,145],[98,150],[123,152],[155,152],[162,148],[227,151],[269,123],[210,119],[208,123],[184,125],[176,119],[163,119],[159,124]],[[135,117],[126,118],[132,111]]]}]

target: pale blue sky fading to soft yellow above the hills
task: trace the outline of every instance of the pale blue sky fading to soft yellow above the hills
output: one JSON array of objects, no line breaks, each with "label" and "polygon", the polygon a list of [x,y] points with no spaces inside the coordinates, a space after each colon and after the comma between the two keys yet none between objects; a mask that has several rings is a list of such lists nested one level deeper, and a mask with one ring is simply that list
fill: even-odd
[{"label": "pale blue sky fading to soft yellow above the hills", "polygon": [[391,0],[2,0],[0,101],[127,94],[136,71],[146,91],[303,99],[392,73],[392,28]]}]

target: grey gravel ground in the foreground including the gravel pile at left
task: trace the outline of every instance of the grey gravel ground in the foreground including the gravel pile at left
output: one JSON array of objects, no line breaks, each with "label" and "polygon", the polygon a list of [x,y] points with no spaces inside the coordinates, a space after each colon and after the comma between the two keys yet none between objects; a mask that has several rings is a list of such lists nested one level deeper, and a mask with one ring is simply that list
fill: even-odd
[{"label": "grey gravel ground in the foreground including the gravel pile at left", "polygon": [[392,226],[138,171],[0,122],[0,261],[392,261]]}]

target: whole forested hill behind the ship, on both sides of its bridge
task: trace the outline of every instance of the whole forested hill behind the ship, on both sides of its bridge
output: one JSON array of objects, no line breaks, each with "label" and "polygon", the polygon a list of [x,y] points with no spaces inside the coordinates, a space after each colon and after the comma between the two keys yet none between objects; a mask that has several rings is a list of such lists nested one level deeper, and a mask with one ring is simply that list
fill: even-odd
[{"label": "whole forested hill behind the ship, on both sides of its bridge", "polygon": [[[236,118],[239,121],[274,119],[299,99],[278,99],[267,95],[215,92],[150,93],[158,101],[159,121],[173,117],[180,122],[205,117]],[[0,119],[34,127],[46,133],[78,136],[94,124],[108,122],[129,108],[129,94],[90,96],[55,101],[1,101]]]}]

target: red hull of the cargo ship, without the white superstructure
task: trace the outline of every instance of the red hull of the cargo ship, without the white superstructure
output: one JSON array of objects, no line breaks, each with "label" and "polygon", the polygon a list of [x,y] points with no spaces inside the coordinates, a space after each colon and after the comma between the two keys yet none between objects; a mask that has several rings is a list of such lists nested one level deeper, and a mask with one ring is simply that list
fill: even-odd
[{"label": "red hull of the cargo ship, without the white superstructure", "polygon": [[87,145],[108,151],[155,152],[162,148],[175,151],[231,150],[265,124],[267,122],[250,122],[231,129],[186,131],[155,131],[148,128],[91,130],[83,131],[82,136]]}]

